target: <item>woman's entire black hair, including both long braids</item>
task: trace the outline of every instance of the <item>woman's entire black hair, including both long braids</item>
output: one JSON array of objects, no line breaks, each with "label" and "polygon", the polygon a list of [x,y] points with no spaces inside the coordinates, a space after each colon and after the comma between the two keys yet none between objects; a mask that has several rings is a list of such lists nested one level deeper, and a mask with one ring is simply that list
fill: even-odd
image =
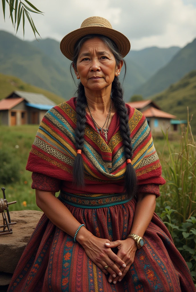
[{"label": "woman's entire black hair, including both long braids", "polygon": [[[78,58],[78,54],[79,54],[82,44],[86,40],[94,38],[94,37],[99,37],[102,41],[104,41],[105,45],[113,53],[117,65],[120,63],[121,60],[124,62],[125,74],[126,74],[125,60],[122,58],[122,56],[118,52],[118,48],[116,44],[108,37],[102,36],[102,35],[96,35],[96,34],[90,34],[90,35],[84,36],[76,43],[75,49],[74,49],[73,62],[70,65],[70,71],[73,67],[76,68],[77,58]],[[71,71],[71,75],[73,77],[72,71]],[[123,89],[120,84],[120,81],[118,80],[118,77],[114,77],[114,80],[112,82],[111,99],[114,103],[114,106],[120,118],[120,134],[122,136],[122,141],[124,145],[124,155],[126,159],[131,159],[132,158],[132,142],[131,142],[130,129],[129,129],[129,116],[127,114],[127,108],[123,100]],[[78,84],[78,90],[77,90],[77,103],[76,103],[77,123],[76,123],[76,129],[75,129],[76,149],[78,150],[79,149],[83,150],[83,147],[84,147],[86,105],[87,105],[87,100],[85,97],[84,86],[80,82]],[[74,161],[73,183],[76,183],[77,187],[84,187],[84,166],[83,166],[83,159],[80,154],[77,154]],[[129,198],[132,198],[136,194],[136,186],[137,186],[137,178],[136,178],[135,170],[131,163],[127,163],[127,168],[125,172],[124,191],[127,193]]]}]

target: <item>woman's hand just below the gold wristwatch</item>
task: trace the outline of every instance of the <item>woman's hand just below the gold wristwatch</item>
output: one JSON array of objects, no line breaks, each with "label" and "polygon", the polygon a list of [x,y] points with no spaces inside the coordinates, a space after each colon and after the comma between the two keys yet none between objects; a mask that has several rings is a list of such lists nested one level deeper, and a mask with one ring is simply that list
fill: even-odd
[{"label": "woman's hand just below the gold wristwatch", "polygon": [[108,246],[108,248],[118,248],[117,256],[121,258],[125,264],[126,267],[120,267],[117,262],[115,264],[120,268],[120,271],[122,272],[122,275],[117,275],[115,279],[111,277],[111,275],[108,278],[108,281],[111,283],[113,280],[113,283],[116,284],[117,281],[121,281],[126,273],[128,272],[130,266],[134,262],[135,252],[137,250],[137,244],[136,241],[133,238],[127,238],[125,240],[117,240],[117,241],[111,241],[110,244],[105,243],[105,246]]}]

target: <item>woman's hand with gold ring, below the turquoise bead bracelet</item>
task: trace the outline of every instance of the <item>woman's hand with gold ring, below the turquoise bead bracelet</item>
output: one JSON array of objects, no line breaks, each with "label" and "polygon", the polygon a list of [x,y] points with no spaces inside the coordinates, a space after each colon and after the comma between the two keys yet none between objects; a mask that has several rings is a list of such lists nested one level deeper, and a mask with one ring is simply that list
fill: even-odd
[{"label": "woman's hand with gold ring, below the turquoise bead bracelet", "polygon": [[[86,230],[83,229],[86,232]],[[87,256],[97,265],[104,274],[110,273],[111,278],[115,278],[117,275],[122,276],[122,272],[119,269],[126,267],[125,263],[111,250],[105,243],[110,243],[108,239],[103,239],[94,236],[89,232],[85,238],[81,239],[81,232],[77,235],[77,241],[83,246]],[[107,270],[104,268],[108,265]],[[118,266],[117,266],[118,265]]]}]

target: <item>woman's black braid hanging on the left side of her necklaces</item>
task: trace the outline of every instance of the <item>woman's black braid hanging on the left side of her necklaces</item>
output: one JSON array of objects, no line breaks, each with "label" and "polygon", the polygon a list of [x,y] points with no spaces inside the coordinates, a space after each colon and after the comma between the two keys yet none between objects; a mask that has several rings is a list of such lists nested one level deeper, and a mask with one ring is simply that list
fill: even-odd
[{"label": "woman's black braid hanging on the left side of her necklaces", "polygon": [[[86,125],[86,97],[84,92],[84,86],[82,83],[78,85],[77,90],[77,104],[76,104],[76,129],[75,139],[76,148],[83,150],[84,147],[84,130]],[[77,187],[84,186],[84,166],[81,154],[77,154],[74,160],[73,169],[73,183],[76,183]]]}]

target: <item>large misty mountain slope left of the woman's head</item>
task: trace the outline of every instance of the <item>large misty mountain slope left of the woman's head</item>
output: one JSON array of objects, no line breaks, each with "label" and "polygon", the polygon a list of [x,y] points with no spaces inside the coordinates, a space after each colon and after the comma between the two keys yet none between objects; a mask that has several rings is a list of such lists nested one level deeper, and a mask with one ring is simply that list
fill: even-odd
[{"label": "large misty mountain slope left of the woman's head", "polygon": [[0,31],[0,72],[52,91],[68,100],[72,94],[70,74],[29,42]]}]

